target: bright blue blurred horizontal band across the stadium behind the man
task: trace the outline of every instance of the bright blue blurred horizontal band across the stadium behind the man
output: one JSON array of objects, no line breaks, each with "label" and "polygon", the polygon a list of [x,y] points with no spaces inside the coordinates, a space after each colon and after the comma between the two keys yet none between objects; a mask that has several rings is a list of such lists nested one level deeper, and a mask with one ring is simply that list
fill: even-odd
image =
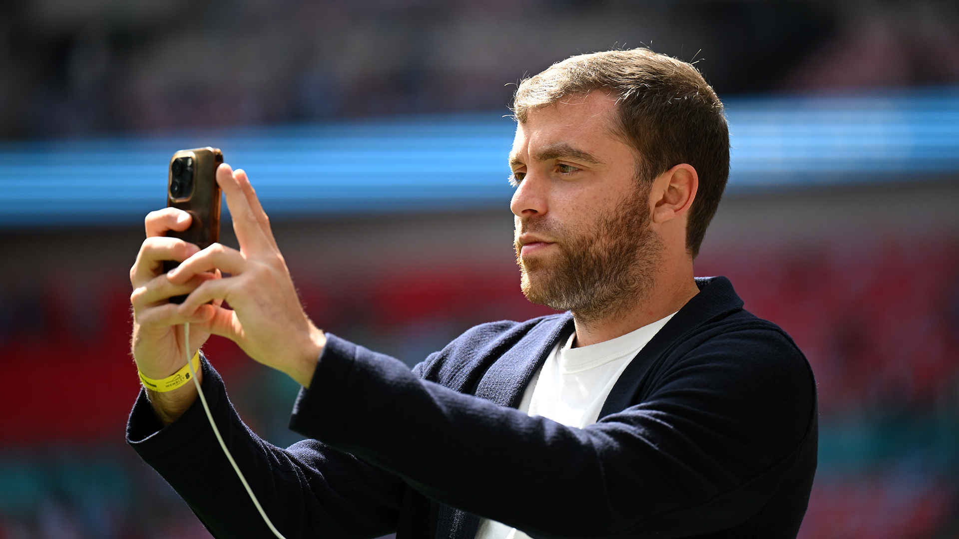
[{"label": "bright blue blurred horizontal band across the stadium behind the man", "polygon": [[[727,103],[731,194],[959,177],[959,88]],[[166,166],[215,146],[274,217],[505,208],[502,114],[0,144],[0,226],[139,223]]]}]

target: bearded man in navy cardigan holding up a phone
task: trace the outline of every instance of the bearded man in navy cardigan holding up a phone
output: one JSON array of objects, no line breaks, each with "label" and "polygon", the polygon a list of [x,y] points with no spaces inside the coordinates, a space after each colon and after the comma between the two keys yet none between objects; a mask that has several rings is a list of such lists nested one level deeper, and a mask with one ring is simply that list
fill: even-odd
[{"label": "bearded man in navy cardigan holding up a phone", "polygon": [[[811,370],[728,280],[693,278],[728,174],[712,88],[679,60],[612,51],[523,82],[515,112],[523,292],[569,312],[480,325],[410,372],[314,327],[246,175],[224,165],[239,251],[164,237],[182,213],[147,218],[130,271],[139,370],[180,368],[190,322],[190,350],[222,335],[303,386],[291,427],[312,439],[281,449],[202,367],[288,538],[795,537],[816,465]],[[164,275],[168,259],[182,264]],[[268,537],[196,396],[141,392],[129,443],[214,535]]]}]

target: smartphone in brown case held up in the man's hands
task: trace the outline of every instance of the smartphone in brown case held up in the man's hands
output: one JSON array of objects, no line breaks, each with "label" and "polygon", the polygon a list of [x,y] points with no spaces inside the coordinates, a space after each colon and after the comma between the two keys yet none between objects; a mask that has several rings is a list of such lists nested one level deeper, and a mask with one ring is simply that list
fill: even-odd
[{"label": "smartphone in brown case held up in the man's hands", "polygon": [[[182,232],[168,230],[167,236],[179,238],[206,248],[220,241],[220,185],[217,167],[223,152],[217,148],[180,150],[170,158],[167,177],[167,206],[179,208],[193,216],[190,227]],[[179,262],[163,262],[163,271],[179,266]],[[175,295],[171,303],[183,303],[186,295]]]}]

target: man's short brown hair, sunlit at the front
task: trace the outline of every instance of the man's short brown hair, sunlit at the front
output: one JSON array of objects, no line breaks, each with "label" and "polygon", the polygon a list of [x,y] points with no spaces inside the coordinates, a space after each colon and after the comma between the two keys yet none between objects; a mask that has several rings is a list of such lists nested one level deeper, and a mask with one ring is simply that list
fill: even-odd
[{"label": "man's short brown hair, sunlit at the front", "polygon": [[637,176],[651,182],[687,163],[699,175],[686,247],[693,258],[706,236],[729,176],[729,129],[713,88],[689,63],[648,49],[606,51],[556,62],[520,82],[513,100],[519,122],[530,109],[605,90],[618,98],[618,134],[640,154]]}]

